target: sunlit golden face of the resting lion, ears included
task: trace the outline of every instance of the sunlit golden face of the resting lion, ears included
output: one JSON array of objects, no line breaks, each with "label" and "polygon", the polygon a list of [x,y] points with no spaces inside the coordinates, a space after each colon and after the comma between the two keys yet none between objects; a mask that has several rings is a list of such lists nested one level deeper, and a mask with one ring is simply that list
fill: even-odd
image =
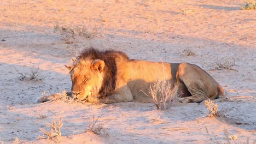
[{"label": "sunlit golden face of the resting lion, ears included", "polygon": [[83,59],[73,67],[67,68],[71,70],[73,98],[79,100],[96,99],[104,79],[104,62],[99,59],[94,61],[85,61]]}]

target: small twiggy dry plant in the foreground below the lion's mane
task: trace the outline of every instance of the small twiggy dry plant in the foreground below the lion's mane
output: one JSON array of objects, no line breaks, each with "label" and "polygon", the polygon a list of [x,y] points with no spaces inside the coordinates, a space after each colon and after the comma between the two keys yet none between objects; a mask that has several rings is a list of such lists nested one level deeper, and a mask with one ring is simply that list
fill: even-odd
[{"label": "small twiggy dry plant in the foreground below the lion's mane", "polygon": [[109,136],[109,134],[107,133],[107,131],[103,128],[103,123],[99,123],[96,124],[98,121],[98,118],[100,118],[101,116],[98,116],[97,118],[95,118],[94,116],[92,117],[92,123],[90,123],[88,125],[88,129],[85,130],[85,132],[87,131],[92,131],[93,133],[97,134],[97,135],[102,135],[102,136]]}]

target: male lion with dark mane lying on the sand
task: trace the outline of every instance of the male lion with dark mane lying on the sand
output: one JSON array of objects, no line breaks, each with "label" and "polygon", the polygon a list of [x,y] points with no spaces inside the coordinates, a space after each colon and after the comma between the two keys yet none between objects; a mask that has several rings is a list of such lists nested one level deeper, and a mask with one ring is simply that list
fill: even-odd
[{"label": "male lion with dark mane lying on the sand", "polygon": [[189,63],[140,61],[120,51],[90,48],[66,67],[72,79],[72,97],[89,103],[150,103],[153,99],[146,94],[157,80],[167,80],[176,87],[182,93],[181,103],[200,103],[225,95],[206,71]]}]

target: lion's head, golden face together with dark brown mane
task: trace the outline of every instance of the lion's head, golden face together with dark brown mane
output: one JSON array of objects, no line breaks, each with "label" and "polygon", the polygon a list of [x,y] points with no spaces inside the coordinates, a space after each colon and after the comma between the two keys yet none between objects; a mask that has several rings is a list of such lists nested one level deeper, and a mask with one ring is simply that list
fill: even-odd
[{"label": "lion's head, golden face together with dark brown mane", "polygon": [[73,59],[71,66],[66,66],[71,75],[73,98],[95,103],[114,92],[117,77],[115,59],[120,56],[129,59],[122,52],[94,48],[83,50]]}]

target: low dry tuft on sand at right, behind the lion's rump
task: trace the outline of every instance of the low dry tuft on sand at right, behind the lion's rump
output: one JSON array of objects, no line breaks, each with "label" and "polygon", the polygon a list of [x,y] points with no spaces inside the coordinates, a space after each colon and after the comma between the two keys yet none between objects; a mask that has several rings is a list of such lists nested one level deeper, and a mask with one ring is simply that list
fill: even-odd
[{"label": "low dry tuft on sand at right, behind the lion's rump", "polygon": [[235,64],[236,64],[235,58],[222,58],[222,59],[218,59],[217,62],[213,66],[214,66],[214,69],[235,70],[232,68]]}]

